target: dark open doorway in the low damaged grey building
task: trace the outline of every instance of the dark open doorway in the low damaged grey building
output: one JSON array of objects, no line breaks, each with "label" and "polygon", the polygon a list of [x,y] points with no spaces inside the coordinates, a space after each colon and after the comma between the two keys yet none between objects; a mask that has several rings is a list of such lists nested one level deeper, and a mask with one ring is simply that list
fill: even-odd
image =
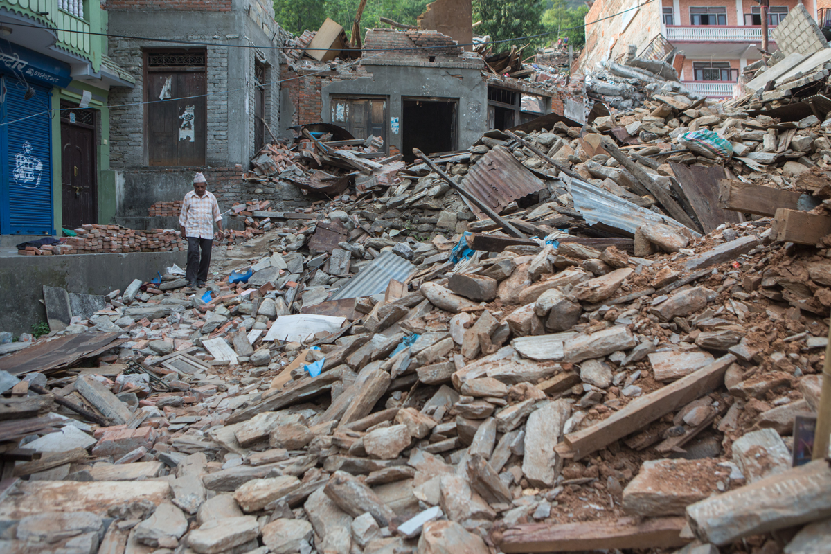
[{"label": "dark open doorway in the low damaged grey building", "polygon": [[416,160],[413,148],[425,154],[456,149],[458,106],[453,98],[401,98],[401,154],[406,162]]}]

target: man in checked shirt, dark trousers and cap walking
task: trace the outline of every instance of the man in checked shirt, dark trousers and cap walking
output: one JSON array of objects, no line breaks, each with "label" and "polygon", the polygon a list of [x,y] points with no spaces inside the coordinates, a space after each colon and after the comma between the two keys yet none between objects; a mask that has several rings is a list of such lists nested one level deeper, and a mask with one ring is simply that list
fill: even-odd
[{"label": "man in checked shirt, dark trousers and cap walking", "polygon": [[[210,265],[210,251],[214,246],[214,221],[222,235],[222,216],[219,215],[219,204],[216,197],[207,190],[208,182],[205,176],[198,173],[194,176],[194,189],[184,195],[182,211],[179,213],[179,225],[182,236],[188,239],[188,268],[184,278],[191,288],[201,288],[208,280]],[[202,257],[199,258],[199,251]]]}]

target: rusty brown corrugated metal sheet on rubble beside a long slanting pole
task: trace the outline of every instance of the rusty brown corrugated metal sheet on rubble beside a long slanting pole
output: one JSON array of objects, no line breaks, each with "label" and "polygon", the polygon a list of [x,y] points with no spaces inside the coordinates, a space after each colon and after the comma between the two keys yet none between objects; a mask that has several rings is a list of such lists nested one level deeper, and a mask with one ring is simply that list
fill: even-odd
[{"label": "rusty brown corrugated metal sheet on rubble beside a long slanting pole", "polygon": [[[462,186],[499,213],[514,200],[544,189],[545,183],[520,164],[508,149],[496,146],[470,168]],[[487,217],[479,208],[471,208],[479,219]]]}]

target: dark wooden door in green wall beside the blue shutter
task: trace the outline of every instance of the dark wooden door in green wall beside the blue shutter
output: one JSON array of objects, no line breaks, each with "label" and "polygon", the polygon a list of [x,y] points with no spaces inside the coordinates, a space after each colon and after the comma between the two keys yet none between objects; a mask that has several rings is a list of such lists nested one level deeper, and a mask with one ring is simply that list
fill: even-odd
[{"label": "dark wooden door in green wall beside the blue shutter", "polygon": [[95,130],[61,121],[63,228],[98,223]]}]

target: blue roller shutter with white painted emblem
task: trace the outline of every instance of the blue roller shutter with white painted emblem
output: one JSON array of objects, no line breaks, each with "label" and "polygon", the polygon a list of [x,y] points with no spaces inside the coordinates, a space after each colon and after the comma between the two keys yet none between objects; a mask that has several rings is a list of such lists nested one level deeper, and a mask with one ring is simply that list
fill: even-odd
[{"label": "blue roller shutter with white painted emblem", "polygon": [[[25,100],[25,86],[6,78],[4,141],[7,156],[7,222],[3,233],[54,234],[52,228],[52,91],[31,85],[35,96]],[[29,117],[33,115],[33,117]],[[23,119],[28,118],[28,119]],[[5,211],[5,210],[4,210]]]}]

